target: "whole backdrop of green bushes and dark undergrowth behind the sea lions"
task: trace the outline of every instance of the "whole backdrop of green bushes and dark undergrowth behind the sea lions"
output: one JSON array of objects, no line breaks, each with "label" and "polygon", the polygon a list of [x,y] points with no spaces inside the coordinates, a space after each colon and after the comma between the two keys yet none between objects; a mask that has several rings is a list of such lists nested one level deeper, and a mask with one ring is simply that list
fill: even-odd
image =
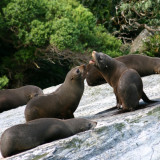
[{"label": "whole backdrop of green bushes and dark undergrowth behind the sea lions", "polygon": [[[88,62],[93,50],[112,57],[127,54],[122,42],[159,26],[159,6],[159,0],[3,0],[0,88],[61,83],[71,67]],[[146,54],[157,56],[159,33],[147,43]]]}]

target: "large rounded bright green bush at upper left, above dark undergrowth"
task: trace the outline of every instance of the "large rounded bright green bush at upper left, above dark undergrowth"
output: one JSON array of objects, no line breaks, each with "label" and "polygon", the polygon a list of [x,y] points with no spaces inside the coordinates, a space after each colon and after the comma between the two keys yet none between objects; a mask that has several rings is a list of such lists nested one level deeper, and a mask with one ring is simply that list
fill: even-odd
[{"label": "large rounded bright green bush at upper left, above dark undergrowth", "polygon": [[15,45],[84,52],[98,29],[93,14],[74,0],[12,0],[3,11]]}]

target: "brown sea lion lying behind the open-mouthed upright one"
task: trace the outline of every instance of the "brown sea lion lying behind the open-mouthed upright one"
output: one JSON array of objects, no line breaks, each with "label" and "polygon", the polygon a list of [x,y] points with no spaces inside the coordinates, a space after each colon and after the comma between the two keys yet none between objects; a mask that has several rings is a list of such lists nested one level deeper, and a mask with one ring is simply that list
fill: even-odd
[{"label": "brown sea lion lying behind the open-mouthed upright one", "polygon": [[[160,74],[160,58],[149,57],[140,54],[130,54],[116,57],[128,68],[135,69],[141,77],[151,74]],[[93,65],[87,66],[86,81],[89,86],[97,86],[106,83],[101,73]]]}]

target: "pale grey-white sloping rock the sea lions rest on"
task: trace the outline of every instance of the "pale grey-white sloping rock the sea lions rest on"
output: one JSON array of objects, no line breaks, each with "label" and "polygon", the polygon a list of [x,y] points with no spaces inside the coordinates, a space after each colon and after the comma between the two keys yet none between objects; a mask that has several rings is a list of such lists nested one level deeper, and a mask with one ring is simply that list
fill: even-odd
[{"label": "pale grey-white sloping rock the sea lions rest on", "polygon": [[[150,99],[160,97],[160,75],[143,78]],[[45,93],[56,87],[45,89]],[[85,86],[75,117],[97,121],[95,129],[47,143],[8,160],[157,160],[160,159],[160,102],[133,112],[119,113],[108,84]],[[141,106],[143,103],[141,101]],[[144,104],[145,106],[145,104]],[[13,125],[24,123],[25,106],[0,114],[0,135]]]}]

